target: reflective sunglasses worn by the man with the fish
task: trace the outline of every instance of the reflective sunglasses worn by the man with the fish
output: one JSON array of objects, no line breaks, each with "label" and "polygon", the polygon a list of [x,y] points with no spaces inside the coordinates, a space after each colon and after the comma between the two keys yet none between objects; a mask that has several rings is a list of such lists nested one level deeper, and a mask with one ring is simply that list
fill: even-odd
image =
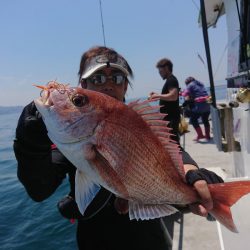
[{"label": "reflective sunglasses worn by the man with the fish", "polygon": [[94,74],[86,79],[87,83],[92,83],[94,85],[104,85],[108,80],[111,80],[116,85],[121,85],[126,82],[126,76],[122,73],[115,73],[111,76],[106,76],[105,74]]}]

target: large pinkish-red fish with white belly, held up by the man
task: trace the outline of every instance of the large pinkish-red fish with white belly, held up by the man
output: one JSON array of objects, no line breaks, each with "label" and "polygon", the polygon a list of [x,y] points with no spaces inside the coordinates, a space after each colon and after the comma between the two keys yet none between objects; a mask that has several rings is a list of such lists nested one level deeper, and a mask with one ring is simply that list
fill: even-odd
[{"label": "large pinkish-red fish with white belly, held up by the man", "polygon": [[[102,93],[57,84],[35,100],[50,139],[76,166],[76,201],[82,213],[100,186],[128,200],[131,219],[176,212],[171,204],[199,202],[186,184],[180,150],[159,107],[128,106]],[[230,206],[250,192],[250,182],[209,185],[211,214],[236,232]],[[230,195],[229,195],[230,194]]]}]

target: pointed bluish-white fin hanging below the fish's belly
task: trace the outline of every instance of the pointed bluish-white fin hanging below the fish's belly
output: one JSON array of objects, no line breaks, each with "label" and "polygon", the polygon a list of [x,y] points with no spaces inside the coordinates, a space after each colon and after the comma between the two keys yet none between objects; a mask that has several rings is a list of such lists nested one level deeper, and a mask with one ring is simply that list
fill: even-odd
[{"label": "pointed bluish-white fin hanging below the fish's belly", "polygon": [[101,187],[96,185],[88,176],[78,169],[76,170],[75,185],[76,203],[79,211],[83,215]]}]

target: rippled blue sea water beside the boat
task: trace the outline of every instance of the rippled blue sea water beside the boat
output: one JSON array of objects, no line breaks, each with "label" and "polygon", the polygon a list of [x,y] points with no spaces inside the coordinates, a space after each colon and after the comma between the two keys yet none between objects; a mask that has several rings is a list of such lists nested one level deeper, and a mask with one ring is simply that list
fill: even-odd
[{"label": "rippled blue sea water beside the boat", "polygon": [[[225,85],[216,87],[216,98],[226,99]],[[17,179],[12,146],[19,115],[0,114],[0,249],[77,249],[76,224],[62,218],[56,207],[69,191],[67,179],[50,198],[39,203],[29,198]]]}]

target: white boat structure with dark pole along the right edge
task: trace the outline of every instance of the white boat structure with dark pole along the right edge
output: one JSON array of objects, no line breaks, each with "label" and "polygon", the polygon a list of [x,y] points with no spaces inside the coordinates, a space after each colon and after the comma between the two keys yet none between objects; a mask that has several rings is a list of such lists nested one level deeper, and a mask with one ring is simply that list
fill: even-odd
[{"label": "white boat structure with dark pole along the right edge", "polygon": [[[250,1],[201,0],[200,23],[212,94],[212,127],[214,142],[219,151],[232,157],[227,180],[250,177]],[[226,15],[228,31],[227,100],[216,103],[207,28],[216,27],[220,16]],[[212,49],[211,49],[212,50]],[[210,66],[210,67],[209,67]],[[232,207],[238,234],[231,233],[218,223],[220,247],[225,250],[250,249],[250,195]]]}]

